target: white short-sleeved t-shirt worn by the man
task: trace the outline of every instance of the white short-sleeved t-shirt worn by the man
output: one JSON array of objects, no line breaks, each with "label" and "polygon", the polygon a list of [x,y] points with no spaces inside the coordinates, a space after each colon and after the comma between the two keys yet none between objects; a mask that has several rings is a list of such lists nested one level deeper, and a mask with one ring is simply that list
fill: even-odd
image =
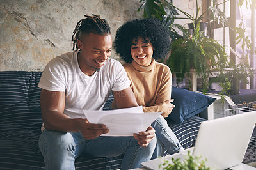
[{"label": "white short-sleeved t-shirt worn by the man", "polygon": [[52,59],[45,66],[38,87],[65,92],[64,114],[85,118],[82,109],[101,110],[111,90],[126,89],[131,81],[121,63],[111,58],[92,76],[85,75],[79,68],[77,53],[68,52]]}]

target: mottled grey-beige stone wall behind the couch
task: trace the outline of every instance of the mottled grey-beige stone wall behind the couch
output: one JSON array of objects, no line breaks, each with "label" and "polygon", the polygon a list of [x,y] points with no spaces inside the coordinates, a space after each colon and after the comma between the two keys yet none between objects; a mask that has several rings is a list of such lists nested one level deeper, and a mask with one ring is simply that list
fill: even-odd
[{"label": "mottled grey-beige stone wall behind the couch", "polygon": [[[125,21],[143,17],[139,6],[139,0],[0,0],[0,71],[44,70],[72,50],[72,32],[84,14],[108,20],[114,37]],[[118,59],[115,52],[111,57]]]}]

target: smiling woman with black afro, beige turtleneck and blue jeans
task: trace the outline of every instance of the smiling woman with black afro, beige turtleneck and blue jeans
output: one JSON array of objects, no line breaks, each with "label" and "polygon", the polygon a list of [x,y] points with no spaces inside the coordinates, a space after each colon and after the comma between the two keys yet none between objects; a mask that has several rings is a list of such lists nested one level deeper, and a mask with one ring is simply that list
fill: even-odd
[{"label": "smiling woman with black afro, beige turtleneck and blue jeans", "polygon": [[[152,158],[184,150],[164,117],[175,107],[170,100],[172,74],[168,66],[156,62],[168,54],[168,31],[157,19],[136,19],[126,22],[116,32],[114,48],[125,61],[124,68],[131,80],[131,88],[144,112],[162,112],[152,123],[156,130],[157,146]],[[156,60],[155,60],[156,59]],[[115,101],[112,104],[116,108]]]}]

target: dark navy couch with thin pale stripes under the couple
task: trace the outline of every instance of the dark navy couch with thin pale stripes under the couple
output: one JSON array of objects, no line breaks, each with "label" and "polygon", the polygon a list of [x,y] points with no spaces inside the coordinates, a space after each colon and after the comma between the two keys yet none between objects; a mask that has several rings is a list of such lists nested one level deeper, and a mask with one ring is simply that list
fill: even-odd
[{"label": "dark navy couch with thin pale stripes under the couple", "polygon": [[[44,169],[44,158],[38,148],[42,117],[40,88],[37,84],[41,75],[42,72],[0,72],[0,169]],[[186,93],[192,94],[184,100],[182,96],[186,98]],[[207,108],[214,99],[206,97],[209,100],[206,105],[194,108],[199,99],[195,97],[194,100],[191,95],[199,93],[173,87],[173,94],[176,95],[172,98],[175,98],[178,113],[166,120],[182,146],[189,148],[195,144],[200,123],[205,121],[195,115]],[[204,97],[200,100],[205,102],[205,96],[200,94],[200,97]],[[189,102],[192,99],[193,102]],[[113,95],[108,98],[104,109],[111,109],[112,100]],[[180,107],[182,102],[188,107]],[[190,109],[192,107],[189,104],[194,105],[193,109]],[[185,115],[180,116],[184,113]],[[105,158],[81,155],[76,159],[75,166],[76,169],[120,169],[122,157],[123,155]]]}]

